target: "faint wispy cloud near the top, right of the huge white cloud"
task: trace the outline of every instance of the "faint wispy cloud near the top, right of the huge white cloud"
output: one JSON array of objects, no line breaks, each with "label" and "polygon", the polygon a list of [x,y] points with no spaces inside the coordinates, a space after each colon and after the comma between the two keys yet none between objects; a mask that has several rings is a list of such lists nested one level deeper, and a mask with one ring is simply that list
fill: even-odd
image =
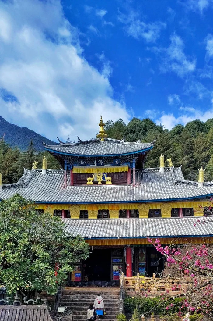
[{"label": "faint wispy cloud near the top, right of the huge white cloud", "polygon": [[125,31],[128,36],[135,39],[145,39],[147,42],[155,42],[160,37],[162,29],[166,28],[164,22],[146,23],[139,19],[139,14],[131,10],[128,14],[119,13],[118,20],[125,24]]}]

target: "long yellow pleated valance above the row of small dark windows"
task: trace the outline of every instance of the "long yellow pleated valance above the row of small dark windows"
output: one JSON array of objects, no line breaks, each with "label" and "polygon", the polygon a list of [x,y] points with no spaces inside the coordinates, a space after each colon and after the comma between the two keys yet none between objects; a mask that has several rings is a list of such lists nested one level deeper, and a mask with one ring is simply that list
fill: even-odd
[{"label": "long yellow pleated valance above the row of small dark windows", "polygon": [[[196,202],[162,202],[162,203],[145,203],[149,208],[154,210],[160,208],[163,203],[168,203],[172,208],[199,208],[209,206],[209,201]],[[120,203],[120,204],[78,204],[81,210],[137,210],[138,206],[144,203]],[[38,209],[52,210],[69,210],[72,204],[38,204]]]}]

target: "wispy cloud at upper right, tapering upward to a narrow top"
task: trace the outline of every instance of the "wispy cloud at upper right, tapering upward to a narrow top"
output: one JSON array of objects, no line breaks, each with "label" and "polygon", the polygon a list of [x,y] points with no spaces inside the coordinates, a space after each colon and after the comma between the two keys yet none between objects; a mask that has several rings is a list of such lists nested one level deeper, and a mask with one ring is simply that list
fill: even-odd
[{"label": "wispy cloud at upper right, tapering upward to a narrow top", "polygon": [[179,77],[192,73],[196,67],[196,59],[187,57],[184,54],[183,40],[174,34],[171,36],[170,41],[168,48],[154,48],[155,52],[162,56],[161,71],[173,71]]}]

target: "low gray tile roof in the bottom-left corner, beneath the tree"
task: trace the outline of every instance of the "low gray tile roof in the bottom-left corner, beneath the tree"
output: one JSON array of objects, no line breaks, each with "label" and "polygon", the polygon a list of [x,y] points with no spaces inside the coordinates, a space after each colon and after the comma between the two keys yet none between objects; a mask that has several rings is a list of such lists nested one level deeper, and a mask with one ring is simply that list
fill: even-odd
[{"label": "low gray tile roof in the bottom-left corner, beneath the tree", "polygon": [[2,305],[0,306],[1,321],[56,321],[56,317],[45,305]]}]

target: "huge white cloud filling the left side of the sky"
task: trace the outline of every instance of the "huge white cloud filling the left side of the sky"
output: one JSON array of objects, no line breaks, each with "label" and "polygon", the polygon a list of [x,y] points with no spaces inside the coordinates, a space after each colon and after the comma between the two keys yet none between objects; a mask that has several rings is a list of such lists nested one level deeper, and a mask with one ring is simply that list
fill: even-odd
[{"label": "huge white cloud filling the left side of the sky", "polygon": [[0,115],[54,140],[94,137],[101,114],[128,122],[109,73],[88,64],[59,0],[1,2],[0,16],[0,88],[16,97],[0,97]]}]

